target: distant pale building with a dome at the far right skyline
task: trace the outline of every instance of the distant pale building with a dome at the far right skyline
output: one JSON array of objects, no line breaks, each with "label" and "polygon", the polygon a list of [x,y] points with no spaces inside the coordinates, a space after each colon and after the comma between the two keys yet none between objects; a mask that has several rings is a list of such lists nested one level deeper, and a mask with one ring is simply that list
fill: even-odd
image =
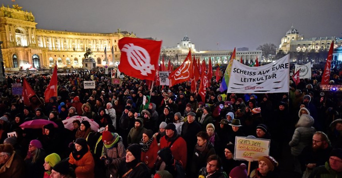
[{"label": "distant pale building with a dome at the far right skyline", "polygon": [[342,44],[340,38],[335,36],[304,38],[304,35],[299,35],[298,30],[292,26],[286,32],[286,35],[281,38],[278,51],[282,50],[284,53],[289,53],[295,51],[310,52],[314,50],[318,52],[319,50],[329,50],[332,41],[335,41],[334,48]]}]

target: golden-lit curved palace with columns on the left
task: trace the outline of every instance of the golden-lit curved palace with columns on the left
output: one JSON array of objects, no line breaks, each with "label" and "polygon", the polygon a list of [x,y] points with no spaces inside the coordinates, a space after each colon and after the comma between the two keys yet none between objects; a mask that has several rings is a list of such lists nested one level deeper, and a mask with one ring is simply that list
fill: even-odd
[{"label": "golden-lit curved palace with columns on the left", "polygon": [[[37,23],[31,12],[22,11],[13,5],[0,7],[0,41],[4,66],[19,68],[82,67],[87,48],[93,52],[96,66],[103,66],[104,50],[107,49],[107,64],[118,64],[120,50],[118,41],[122,37],[136,37],[133,32],[83,33],[36,29]],[[114,59],[111,47],[114,49]]]}]

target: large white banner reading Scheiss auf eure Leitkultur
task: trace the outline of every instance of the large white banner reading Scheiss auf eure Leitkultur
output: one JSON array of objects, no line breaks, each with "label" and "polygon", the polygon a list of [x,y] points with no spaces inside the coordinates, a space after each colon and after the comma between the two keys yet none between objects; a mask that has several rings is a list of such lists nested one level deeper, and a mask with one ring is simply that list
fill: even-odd
[{"label": "large white banner reading Scheiss auf eure Leitkultur", "polygon": [[276,62],[249,67],[234,60],[227,93],[288,93],[290,55]]}]

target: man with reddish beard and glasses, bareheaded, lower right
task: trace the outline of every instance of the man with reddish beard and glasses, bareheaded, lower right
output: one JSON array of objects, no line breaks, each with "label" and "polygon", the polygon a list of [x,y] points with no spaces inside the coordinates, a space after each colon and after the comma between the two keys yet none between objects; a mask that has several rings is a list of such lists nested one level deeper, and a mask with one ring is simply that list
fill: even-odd
[{"label": "man with reddish beard and glasses, bareheaded, lower right", "polygon": [[[329,159],[331,151],[330,140],[324,132],[316,132],[312,136],[312,145],[303,149],[300,155],[302,170],[305,177],[308,177],[313,168],[322,166]],[[304,167],[305,166],[305,167]]]}]

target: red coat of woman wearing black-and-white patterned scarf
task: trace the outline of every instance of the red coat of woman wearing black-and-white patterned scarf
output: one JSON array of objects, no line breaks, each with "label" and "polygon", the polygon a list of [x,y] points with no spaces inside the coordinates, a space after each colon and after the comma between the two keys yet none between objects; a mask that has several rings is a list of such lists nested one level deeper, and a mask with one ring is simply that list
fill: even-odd
[{"label": "red coat of woman wearing black-and-white patterned scarf", "polygon": [[158,156],[157,155],[158,150],[159,150],[159,147],[157,144],[157,139],[153,139],[153,142],[148,148],[148,150],[146,152],[144,151],[141,152],[140,160],[141,162],[145,163],[149,169],[154,168],[154,163],[156,162],[157,156]]}]

